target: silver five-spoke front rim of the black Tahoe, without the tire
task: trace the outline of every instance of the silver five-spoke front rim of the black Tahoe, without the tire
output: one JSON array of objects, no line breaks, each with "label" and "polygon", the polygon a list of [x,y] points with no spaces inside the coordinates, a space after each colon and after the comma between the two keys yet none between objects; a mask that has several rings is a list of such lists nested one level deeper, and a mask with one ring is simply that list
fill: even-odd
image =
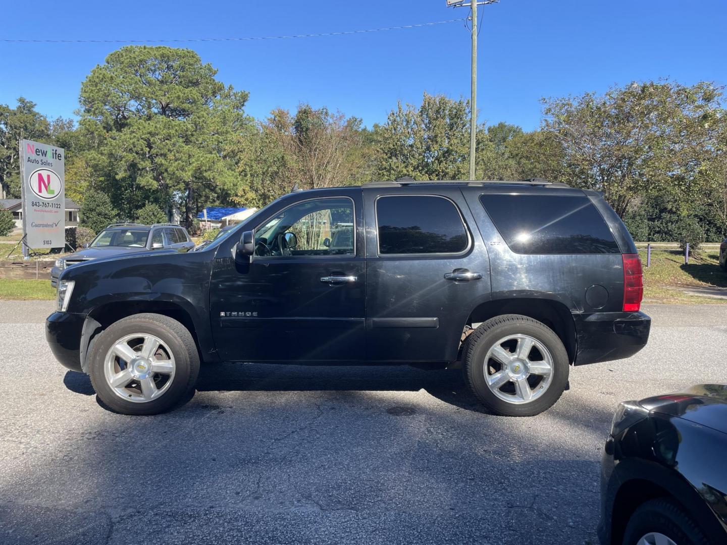
[{"label": "silver five-spoke front rim of the black Tahoe, without the tire", "polygon": [[146,403],[164,395],[174,379],[172,350],[156,336],[136,333],[113,343],[104,360],[106,382],[119,397]]}]

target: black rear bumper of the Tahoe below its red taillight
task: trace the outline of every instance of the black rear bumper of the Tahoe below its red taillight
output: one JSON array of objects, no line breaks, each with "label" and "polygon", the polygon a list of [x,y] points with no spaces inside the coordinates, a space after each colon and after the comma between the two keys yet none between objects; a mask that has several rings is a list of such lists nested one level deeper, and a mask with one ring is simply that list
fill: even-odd
[{"label": "black rear bumper of the Tahoe below its red taillight", "polygon": [[643,312],[596,312],[573,316],[575,365],[629,358],[646,346],[651,318]]}]

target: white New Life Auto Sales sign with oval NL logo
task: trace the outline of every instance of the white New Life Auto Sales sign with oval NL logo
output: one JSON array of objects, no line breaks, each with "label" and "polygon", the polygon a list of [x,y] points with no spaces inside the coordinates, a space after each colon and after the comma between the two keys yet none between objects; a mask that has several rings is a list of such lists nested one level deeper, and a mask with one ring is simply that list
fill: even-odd
[{"label": "white New Life Auto Sales sign with oval NL logo", "polygon": [[28,248],[65,246],[65,150],[20,140],[23,236]]}]

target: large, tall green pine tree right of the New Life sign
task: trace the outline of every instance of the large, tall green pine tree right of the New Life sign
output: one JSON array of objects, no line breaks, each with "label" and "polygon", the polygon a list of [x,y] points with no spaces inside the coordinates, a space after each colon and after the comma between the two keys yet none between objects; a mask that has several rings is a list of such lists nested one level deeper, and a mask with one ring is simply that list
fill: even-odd
[{"label": "large, tall green pine tree right of the New Life sign", "polygon": [[[111,53],[81,85],[81,127],[97,142],[89,162],[127,216],[150,200],[185,207],[225,201],[240,182],[225,143],[250,121],[246,92],[215,78],[190,49],[129,46]],[[204,202],[201,203],[204,206]]]}]

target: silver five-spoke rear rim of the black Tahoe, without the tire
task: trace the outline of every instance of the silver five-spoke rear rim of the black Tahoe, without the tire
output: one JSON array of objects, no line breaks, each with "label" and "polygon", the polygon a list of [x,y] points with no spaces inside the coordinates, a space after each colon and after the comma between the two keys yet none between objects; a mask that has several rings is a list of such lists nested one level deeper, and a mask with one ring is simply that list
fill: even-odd
[{"label": "silver five-spoke rear rim of the black Tahoe, without the tire", "polygon": [[537,400],[553,381],[553,356],[529,335],[508,335],[492,345],[484,361],[485,382],[507,403]]}]

